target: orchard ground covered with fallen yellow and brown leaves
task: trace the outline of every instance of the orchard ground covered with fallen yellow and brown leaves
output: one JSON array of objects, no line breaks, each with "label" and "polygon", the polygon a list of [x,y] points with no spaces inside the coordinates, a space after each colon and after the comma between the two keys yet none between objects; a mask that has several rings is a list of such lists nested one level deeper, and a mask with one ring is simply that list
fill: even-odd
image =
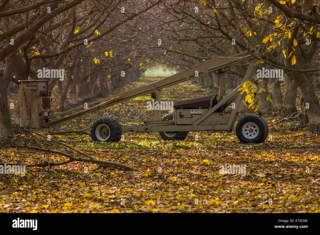
[{"label": "orchard ground covered with fallen yellow and brown leaves", "polygon": [[[148,82],[146,78],[123,90]],[[162,96],[176,101],[212,92],[217,93],[186,82],[163,90]],[[151,117],[146,111],[147,99],[135,98],[127,105],[119,104],[55,128],[76,130],[76,126],[89,131],[99,115],[117,117],[122,124],[141,123]],[[281,120],[272,114],[263,117],[269,125]],[[28,168],[24,177],[0,174],[0,212],[320,212],[319,136],[305,129],[290,131],[294,121],[273,125],[269,132],[272,139],[254,145],[241,144],[227,132],[189,132],[185,141],[170,142],[158,133],[125,133],[119,143],[97,143],[87,135],[54,135],[53,139],[92,157],[126,164],[137,171],[91,171],[97,165],[73,162],[51,169]],[[42,137],[23,134],[18,136],[29,145],[69,151]],[[22,143],[20,139],[2,139],[0,160],[24,164],[66,160],[16,147]],[[220,166],[226,163],[246,165],[246,175],[220,174]]]}]

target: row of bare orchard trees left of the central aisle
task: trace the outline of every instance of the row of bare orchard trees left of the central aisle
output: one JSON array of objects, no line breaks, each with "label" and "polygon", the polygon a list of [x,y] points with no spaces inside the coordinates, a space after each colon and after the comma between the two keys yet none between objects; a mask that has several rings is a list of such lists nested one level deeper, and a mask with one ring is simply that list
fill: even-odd
[{"label": "row of bare orchard trees left of the central aisle", "polygon": [[[10,82],[49,80],[49,90],[59,92],[53,106],[64,111],[140,77],[153,53],[144,42],[144,23],[154,17],[150,9],[164,2],[1,1],[0,135],[12,135]],[[43,68],[63,71],[63,80],[39,76]]]}]

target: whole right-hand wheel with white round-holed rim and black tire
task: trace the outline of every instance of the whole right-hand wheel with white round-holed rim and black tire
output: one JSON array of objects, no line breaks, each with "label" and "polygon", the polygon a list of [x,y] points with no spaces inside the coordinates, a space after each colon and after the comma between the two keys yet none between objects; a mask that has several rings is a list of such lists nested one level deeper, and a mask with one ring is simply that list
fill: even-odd
[{"label": "whole right-hand wheel with white round-holed rim and black tire", "polygon": [[262,143],[267,136],[265,121],[256,115],[248,115],[241,118],[236,125],[236,136],[240,142]]}]

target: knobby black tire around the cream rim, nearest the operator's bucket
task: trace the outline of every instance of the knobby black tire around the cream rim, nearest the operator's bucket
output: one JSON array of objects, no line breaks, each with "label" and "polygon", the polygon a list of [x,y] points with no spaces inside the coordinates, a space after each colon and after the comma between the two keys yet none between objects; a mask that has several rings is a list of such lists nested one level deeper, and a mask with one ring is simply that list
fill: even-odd
[{"label": "knobby black tire around the cream rim, nearest the operator's bucket", "polygon": [[[101,125],[101,126],[100,126]],[[99,127],[103,128],[104,126],[108,126],[107,133],[109,135],[106,139],[102,139],[101,134],[96,132],[96,129]],[[99,131],[99,130],[97,130]],[[97,136],[98,134],[98,136]],[[93,141],[100,141],[100,142],[119,142],[122,135],[122,129],[119,122],[112,118],[112,117],[100,117],[97,121],[95,121],[91,126],[91,138]]]}]

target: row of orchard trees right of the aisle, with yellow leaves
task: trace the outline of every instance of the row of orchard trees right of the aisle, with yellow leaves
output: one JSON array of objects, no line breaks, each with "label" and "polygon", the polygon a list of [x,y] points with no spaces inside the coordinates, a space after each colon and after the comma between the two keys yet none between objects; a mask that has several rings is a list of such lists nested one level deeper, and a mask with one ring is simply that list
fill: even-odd
[{"label": "row of orchard trees right of the aisle, with yellow leaves", "polygon": [[[205,0],[183,1],[167,7],[155,38],[165,43],[157,46],[165,64],[180,69],[194,66],[216,56],[229,56],[262,46],[258,69],[283,69],[284,80],[262,78],[262,106],[272,105],[285,116],[297,113],[297,89],[302,93],[301,112],[312,132],[320,132],[320,106],[314,90],[319,86],[320,4],[317,0]],[[239,85],[246,66],[239,65],[227,75],[228,90]],[[199,79],[216,86],[216,76]],[[213,80],[213,81],[212,81]],[[282,80],[282,81],[281,81]],[[281,84],[285,82],[285,96]],[[268,90],[269,88],[269,90]],[[273,104],[270,104],[272,97]],[[307,108],[306,108],[307,107]],[[306,116],[308,118],[306,118]]]}]

